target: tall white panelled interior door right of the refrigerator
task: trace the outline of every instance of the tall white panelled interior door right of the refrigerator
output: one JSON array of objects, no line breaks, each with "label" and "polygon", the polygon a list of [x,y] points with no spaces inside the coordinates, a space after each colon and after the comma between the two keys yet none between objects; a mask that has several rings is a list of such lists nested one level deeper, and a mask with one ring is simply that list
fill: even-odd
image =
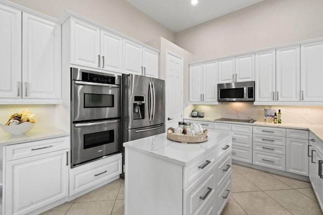
[{"label": "tall white panelled interior door right of the refrigerator", "polygon": [[[183,120],[183,58],[166,53],[166,128]],[[170,119],[170,120],[169,120]]]}]

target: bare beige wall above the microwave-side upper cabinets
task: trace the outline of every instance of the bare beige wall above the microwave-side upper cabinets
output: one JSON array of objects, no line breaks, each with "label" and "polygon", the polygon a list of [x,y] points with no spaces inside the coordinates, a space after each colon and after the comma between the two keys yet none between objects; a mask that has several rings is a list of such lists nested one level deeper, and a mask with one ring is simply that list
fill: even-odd
[{"label": "bare beige wall above the microwave-side upper cabinets", "polygon": [[265,0],[176,33],[194,61],[323,37],[322,0]]}]

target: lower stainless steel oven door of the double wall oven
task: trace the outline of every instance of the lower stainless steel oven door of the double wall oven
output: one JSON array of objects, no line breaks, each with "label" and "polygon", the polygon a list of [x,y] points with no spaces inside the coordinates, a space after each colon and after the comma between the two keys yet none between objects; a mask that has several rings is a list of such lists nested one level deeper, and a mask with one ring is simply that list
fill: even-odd
[{"label": "lower stainless steel oven door of the double wall oven", "polygon": [[72,165],[121,152],[120,119],[73,124]]}]

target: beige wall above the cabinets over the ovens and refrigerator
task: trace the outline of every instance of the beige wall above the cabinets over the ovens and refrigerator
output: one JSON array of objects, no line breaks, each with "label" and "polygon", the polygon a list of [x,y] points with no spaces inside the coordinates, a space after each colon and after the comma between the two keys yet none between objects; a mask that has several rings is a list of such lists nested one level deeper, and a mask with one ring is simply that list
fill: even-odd
[{"label": "beige wall above the cabinets over the ovens and refrigerator", "polygon": [[146,42],[157,37],[175,41],[175,33],[125,0],[10,0],[34,11],[59,18],[73,11],[127,36]]}]

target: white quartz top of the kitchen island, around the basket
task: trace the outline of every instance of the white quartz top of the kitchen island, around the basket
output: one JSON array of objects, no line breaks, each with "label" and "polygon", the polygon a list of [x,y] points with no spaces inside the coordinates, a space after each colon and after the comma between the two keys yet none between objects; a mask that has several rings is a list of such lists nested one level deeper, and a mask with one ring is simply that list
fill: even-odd
[{"label": "white quartz top of the kitchen island, around the basket", "polygon": [[208,139],[199,144],[184,144],[167,139],[167,133],[124,142],[123,146],[172,163],[189,166],[196,159],[232,138],[232,132],[207,131]]}]

